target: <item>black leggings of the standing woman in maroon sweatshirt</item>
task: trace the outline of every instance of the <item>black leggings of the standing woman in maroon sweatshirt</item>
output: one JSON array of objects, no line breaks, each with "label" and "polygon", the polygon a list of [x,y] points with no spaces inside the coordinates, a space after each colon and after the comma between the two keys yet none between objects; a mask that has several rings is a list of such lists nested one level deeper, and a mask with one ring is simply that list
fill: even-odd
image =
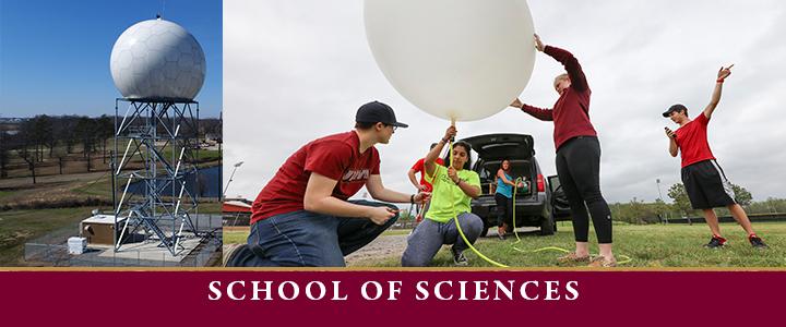
[{"label": "black leggings of the standing woman in maroon sweatshirt", "polygon": [[557,150],[557,173],[571,206],[575,241],[587,242],[590,214],[598,243],[610,244],[611,211],[600,194],[600,143],[597,137],[579,136],[562,144]]}]

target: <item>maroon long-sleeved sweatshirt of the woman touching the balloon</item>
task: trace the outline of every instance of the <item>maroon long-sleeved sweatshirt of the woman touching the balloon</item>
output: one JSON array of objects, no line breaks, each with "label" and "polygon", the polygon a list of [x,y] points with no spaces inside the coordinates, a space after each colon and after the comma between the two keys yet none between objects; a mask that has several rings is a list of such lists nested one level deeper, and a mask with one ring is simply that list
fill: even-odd
[{"label": "maroon long-sleeved sweatshirt of the woman touching the balloon", "polygon": [[571,52],[557,47],[546,46],[544,52],[564,65],[571,78],[571,87],[560,95],[553,109],[541,109],[524,105],[522,111],[539,120],[555,122],[553,137],[557,150],[573,137],[597,136],[592,122],[590,122],[590,95],[592,90],[590,90],[579,60]]}]

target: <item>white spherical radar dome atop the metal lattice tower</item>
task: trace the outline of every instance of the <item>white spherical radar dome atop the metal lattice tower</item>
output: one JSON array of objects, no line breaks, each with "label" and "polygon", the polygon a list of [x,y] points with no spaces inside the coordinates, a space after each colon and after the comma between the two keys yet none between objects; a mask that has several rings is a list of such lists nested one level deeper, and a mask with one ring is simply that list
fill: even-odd
[{"label": "white spherical radar dome atop the metal lattice tower", "polygon": [[162,19],[126,29],[115,43],[109,68],[115,86],[129,99],[191,100],[205,76],[204,52],[196,39]]}]

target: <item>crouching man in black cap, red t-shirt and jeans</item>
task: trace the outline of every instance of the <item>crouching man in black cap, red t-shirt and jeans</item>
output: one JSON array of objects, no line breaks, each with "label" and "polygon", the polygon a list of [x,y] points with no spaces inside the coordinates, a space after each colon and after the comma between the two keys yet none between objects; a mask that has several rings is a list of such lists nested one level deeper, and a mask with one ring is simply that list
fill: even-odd
[{"label": "crouching man in black cap, red t-shirt and jeans", "polygon": [[398,218],[397,207],[348,201],[362,186],[393,203],[428,199],[384,187],[374,145],[388,144],[396,128],[393,109],[361,106],[355,130],[314,140],[293,154],[252,205],[248,244],[225,253],[234,267],[345,266],[344,256],[365,246]]}]

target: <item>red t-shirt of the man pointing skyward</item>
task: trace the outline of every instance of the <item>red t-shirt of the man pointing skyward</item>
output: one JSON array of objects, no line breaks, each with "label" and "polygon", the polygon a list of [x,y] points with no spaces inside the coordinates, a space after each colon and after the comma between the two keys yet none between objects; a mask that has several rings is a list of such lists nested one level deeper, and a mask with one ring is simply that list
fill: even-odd
[{"label": "red t-shirt of the man pointing skyward", "polygon": [[708,123],[710,119],[702,112],[699,117],[675,131],[683,168],[699,161],[715,159],[706,140],[706,126]]}]

